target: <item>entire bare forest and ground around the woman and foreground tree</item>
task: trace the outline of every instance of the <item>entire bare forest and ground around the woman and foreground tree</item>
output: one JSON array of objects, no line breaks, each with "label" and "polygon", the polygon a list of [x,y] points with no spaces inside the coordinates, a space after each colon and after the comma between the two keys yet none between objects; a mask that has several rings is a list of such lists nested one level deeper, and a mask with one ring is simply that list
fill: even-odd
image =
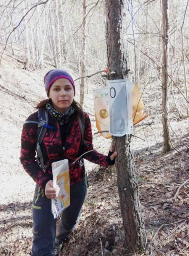
[{"label": "entire bare forest and ground around the woman and foreground tree", "polygon": [[[146,230],[146,250],[139,255],[189,255],[188,3],[189,0],[126,1],[129,77],[138,81],[145,112],[149,115],[136,126],[132,137]],[[21,122],[39,98],[45,97],[45,92],[41,93],[42,79],[49,69],[71,72],[79,88],[76,99],[89,112],[93,132],[97,131],[92,89],[107,86],[105,5],[105,0],[0,0],[3,178],[7,177],[5,169],[10,169],[10,177],[23,173],[18,164]],[[38,81],[41,89],[37,87]],[[38,98],[36,94],[40,94]],[[16,111],[20,111],[18,118],[14,104]],[[14,132],[13,127],[16,127]],[[166,139],[170,148],[165,146]],[[104,153],[108,151],[107,140],[94,135],[94,145],[102,143],[100,150]],[[92,171],[89,172],[91,187],[79,231],[74,231],[64,248],[65,254],[60,255],[128,255],[124,248],[115,169],[90,166],[88,169]],[[30,179],[26,176],[23,180],[27,178]],[[28,185],[26,191],[32,193],[29,189]],[[0,228],[5,234],[0,255],[28,255],[32,241],[31,231],[27,229],[32,227],[32,195],[29,201],[27,195],[23,196],[19,208],[16,206],[21,200],[19,191],[14,198],[12,195],[5,195],[5,201],[0,204],[3,216]]]}]

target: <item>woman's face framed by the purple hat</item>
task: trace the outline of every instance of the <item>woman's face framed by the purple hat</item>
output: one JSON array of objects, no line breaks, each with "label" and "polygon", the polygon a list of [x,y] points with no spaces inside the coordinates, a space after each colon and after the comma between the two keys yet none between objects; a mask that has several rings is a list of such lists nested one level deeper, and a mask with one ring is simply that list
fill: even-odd
[{"label": "woman's face framed by the purple hat", "polygon": [[58,112],[65,113],[74,98],[71,82],[66,78],[57,79],[50,87],[49,98],[52,100],[52,106]]}]

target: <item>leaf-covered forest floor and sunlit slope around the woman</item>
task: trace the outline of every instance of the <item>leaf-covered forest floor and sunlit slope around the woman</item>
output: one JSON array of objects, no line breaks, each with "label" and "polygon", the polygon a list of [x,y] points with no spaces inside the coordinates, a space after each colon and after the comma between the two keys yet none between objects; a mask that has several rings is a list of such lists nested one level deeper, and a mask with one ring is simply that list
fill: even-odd
[{"label": "leaf-covered forest floor and sunlit slope around the woman", "polygon": [[[26,256],[31,251],[35,184],[19,163],[20,136],[22,124],[36,102],[45,98],[43,76],[52,68],[46,63],[44,69],[26,71],[16,59],[23,59],[23,52],[15,49],[12,56],[8,49],[0,67],[0,256]],[[78,77],[72,74],[75,79]],[[115,168],[100,169],[86,161],[87,197],[77,229],[69,236],[60,256],[189,256],[189,122],[179,119],[174,107],[170,108],[174,148],[164,154],[160,85],[156,83],[149,83],[143,95],[149,114],[143,124],[153,124],[136,127],[137,137],[132,139],[145,223],[145,250],[130,254],[124,246]],[[78,88],[76,84],[76,95]],[[95,85],[90,84],[88,89],[84,110],[96,132],[92,97]],[[183,101],[177,97],[178,102]],[[106,154],[110,140],[94,135],[94,146],[100,146],[99,151]]]}]

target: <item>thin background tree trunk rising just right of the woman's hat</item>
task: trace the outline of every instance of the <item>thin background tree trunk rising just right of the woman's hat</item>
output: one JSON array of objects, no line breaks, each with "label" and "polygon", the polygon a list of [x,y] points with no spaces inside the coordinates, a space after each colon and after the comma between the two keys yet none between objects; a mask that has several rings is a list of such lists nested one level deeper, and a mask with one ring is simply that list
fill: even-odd
[{"label": "thin background tree trunk rising just right of the woman's hat", "polygon": [[81,82],[80,82],[80,105],[84,103],[84,76],[85,76],[85,25],[86,25],[86,0],[83,0],[83,20],[82,20],[82,51],[81,51]]}]

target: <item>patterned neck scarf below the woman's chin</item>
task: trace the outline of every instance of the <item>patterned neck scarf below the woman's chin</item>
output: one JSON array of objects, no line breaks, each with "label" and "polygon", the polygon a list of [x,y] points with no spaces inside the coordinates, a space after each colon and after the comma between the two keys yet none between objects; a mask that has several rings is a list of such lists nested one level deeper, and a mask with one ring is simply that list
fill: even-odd
[{"label": "patterned neck scarf below the woman's chin", "polygon": [[55,110],[50,103],[46,104],[46,109],[50,114],[52,114],[52,116],[57,119],[57,122],[58,124],[60,124],[60,126],[66,124],[75,111],[72,106],[69,106],[66,112],[64,114],[61,114],[60,112]]}]

